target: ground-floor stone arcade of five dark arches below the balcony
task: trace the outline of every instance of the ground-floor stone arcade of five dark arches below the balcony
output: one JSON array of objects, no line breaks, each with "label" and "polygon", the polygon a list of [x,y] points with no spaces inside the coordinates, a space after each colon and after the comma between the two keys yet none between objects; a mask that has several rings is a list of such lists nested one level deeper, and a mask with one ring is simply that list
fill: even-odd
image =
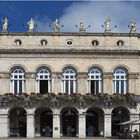
[{"label": "ground-floor stone arcade of five dark arches below the balcony", "polygon": [[113,108],[66,106],[61,109],[49,106],[1,108],[0,137],[111,137],[124,130],[124,126],[117,124],[128,120],[139,120],[139,114],[136,112],[137,109],[126,106]]}]

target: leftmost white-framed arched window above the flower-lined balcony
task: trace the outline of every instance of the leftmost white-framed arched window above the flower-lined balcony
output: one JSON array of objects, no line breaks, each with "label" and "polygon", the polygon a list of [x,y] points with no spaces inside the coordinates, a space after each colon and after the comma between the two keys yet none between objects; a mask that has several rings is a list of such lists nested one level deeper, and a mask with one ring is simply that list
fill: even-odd
[{"label": "leftmost white-framed arched window above the flower-lined balcony", "polygon": [[10,74],[10,91],[14,94],[25,92],[25,70],[22,67],[15,67]]}]

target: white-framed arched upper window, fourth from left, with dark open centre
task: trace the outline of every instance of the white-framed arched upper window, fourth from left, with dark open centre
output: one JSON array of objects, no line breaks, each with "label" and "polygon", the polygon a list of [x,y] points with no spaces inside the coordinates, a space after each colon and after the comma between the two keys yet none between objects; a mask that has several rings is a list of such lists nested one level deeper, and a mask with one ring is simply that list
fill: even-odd
[{"label": "white-framed arched upper window, fourth from left, with dark open centre", "polygon": [[90,68],[88,71],[88,92],[102,92],[102,73],[98,68]]}]

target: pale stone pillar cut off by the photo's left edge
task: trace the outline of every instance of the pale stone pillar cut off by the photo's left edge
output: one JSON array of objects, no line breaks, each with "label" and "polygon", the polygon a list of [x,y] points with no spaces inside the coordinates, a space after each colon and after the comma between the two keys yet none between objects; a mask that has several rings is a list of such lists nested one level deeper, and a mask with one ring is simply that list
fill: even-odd
[{"label": "pale stone pillar cut off by the photo's left edge", "polygon": [[0,114],[0,138],[9,136],[9,121],[7,114]]}]

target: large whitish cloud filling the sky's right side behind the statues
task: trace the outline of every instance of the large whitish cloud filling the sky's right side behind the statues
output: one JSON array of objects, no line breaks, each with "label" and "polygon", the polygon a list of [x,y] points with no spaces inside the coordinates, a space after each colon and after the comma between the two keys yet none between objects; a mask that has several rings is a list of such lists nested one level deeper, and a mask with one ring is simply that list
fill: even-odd
[{"label": "large whitish cloud filling the sky's right side behind the statues", "polygon": [[[128,24],[134,19],[137,27],[140,27],[140,2],[113,2],[113,1],[84,1],[73,2],[69,7],[63,11],[63,15],[59,18],[64,28],[63,32],[77,32],[75,27],[79,24],[80,19],[84,21],[85,26],[90,25],[87,32],[104,32],[102,25],[105,18],[111,19],[112,32],[129,32]],[[52,24],[48,17],[37,19],[38,31],[50,31],[46,26]],[[115,29],[114,26],[117,25]],[[138,30],[139,32],[140,30]]]}]

